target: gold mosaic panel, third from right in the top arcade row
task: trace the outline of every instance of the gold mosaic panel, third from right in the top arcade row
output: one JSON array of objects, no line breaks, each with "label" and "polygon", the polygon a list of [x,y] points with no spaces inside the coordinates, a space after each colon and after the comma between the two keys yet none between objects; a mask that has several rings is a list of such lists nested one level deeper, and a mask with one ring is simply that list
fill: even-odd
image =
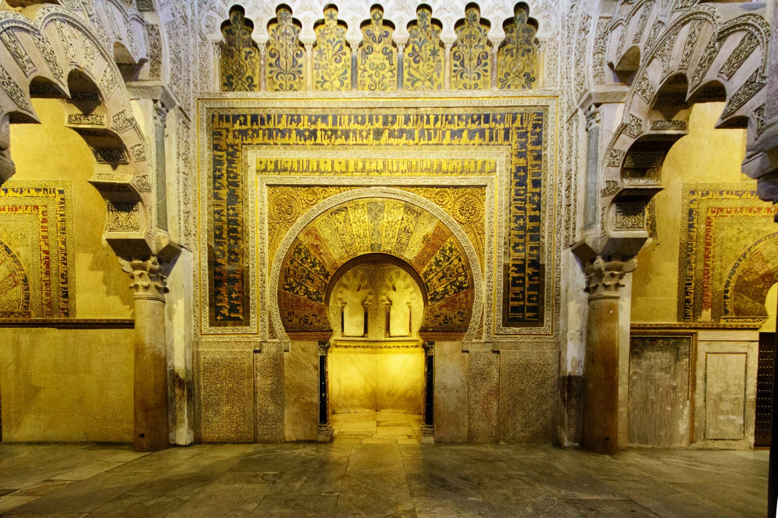
[{"label": "gold mosaic panel, third from right in the top arcade row", "polygon": [[420,7],[418,18],[408,28],[408,43],[403,62],[403,88],[406,90],[440,90],[443,88],[442,26],[433,21],[433,12]]}]

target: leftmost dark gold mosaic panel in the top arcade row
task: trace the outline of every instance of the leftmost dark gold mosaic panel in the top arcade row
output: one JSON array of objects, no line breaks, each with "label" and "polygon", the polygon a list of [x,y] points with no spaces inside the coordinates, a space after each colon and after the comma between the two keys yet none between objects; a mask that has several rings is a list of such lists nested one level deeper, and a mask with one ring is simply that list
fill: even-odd
[{"label": "leftmost dark gold mosaic panel in the top arcade row", "polygon": [[221,88],[225,92],[259,90],[260,57],[257,45],[251,40],[253,29],[241,9],[230,12],[230,25],[222,31],[226,43],[219,63]]}]

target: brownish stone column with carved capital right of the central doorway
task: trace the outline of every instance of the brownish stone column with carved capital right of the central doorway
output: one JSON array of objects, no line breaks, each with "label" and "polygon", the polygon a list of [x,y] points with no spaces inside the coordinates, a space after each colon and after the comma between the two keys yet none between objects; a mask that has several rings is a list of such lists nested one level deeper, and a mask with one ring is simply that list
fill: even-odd
[{"label": "brownish stone column with carved capital right of the central doorway", "polygon": [[584,269],[589,294],[581,447],[612,455],[619,447],[619,287],[636,259],[597,256]]}]

